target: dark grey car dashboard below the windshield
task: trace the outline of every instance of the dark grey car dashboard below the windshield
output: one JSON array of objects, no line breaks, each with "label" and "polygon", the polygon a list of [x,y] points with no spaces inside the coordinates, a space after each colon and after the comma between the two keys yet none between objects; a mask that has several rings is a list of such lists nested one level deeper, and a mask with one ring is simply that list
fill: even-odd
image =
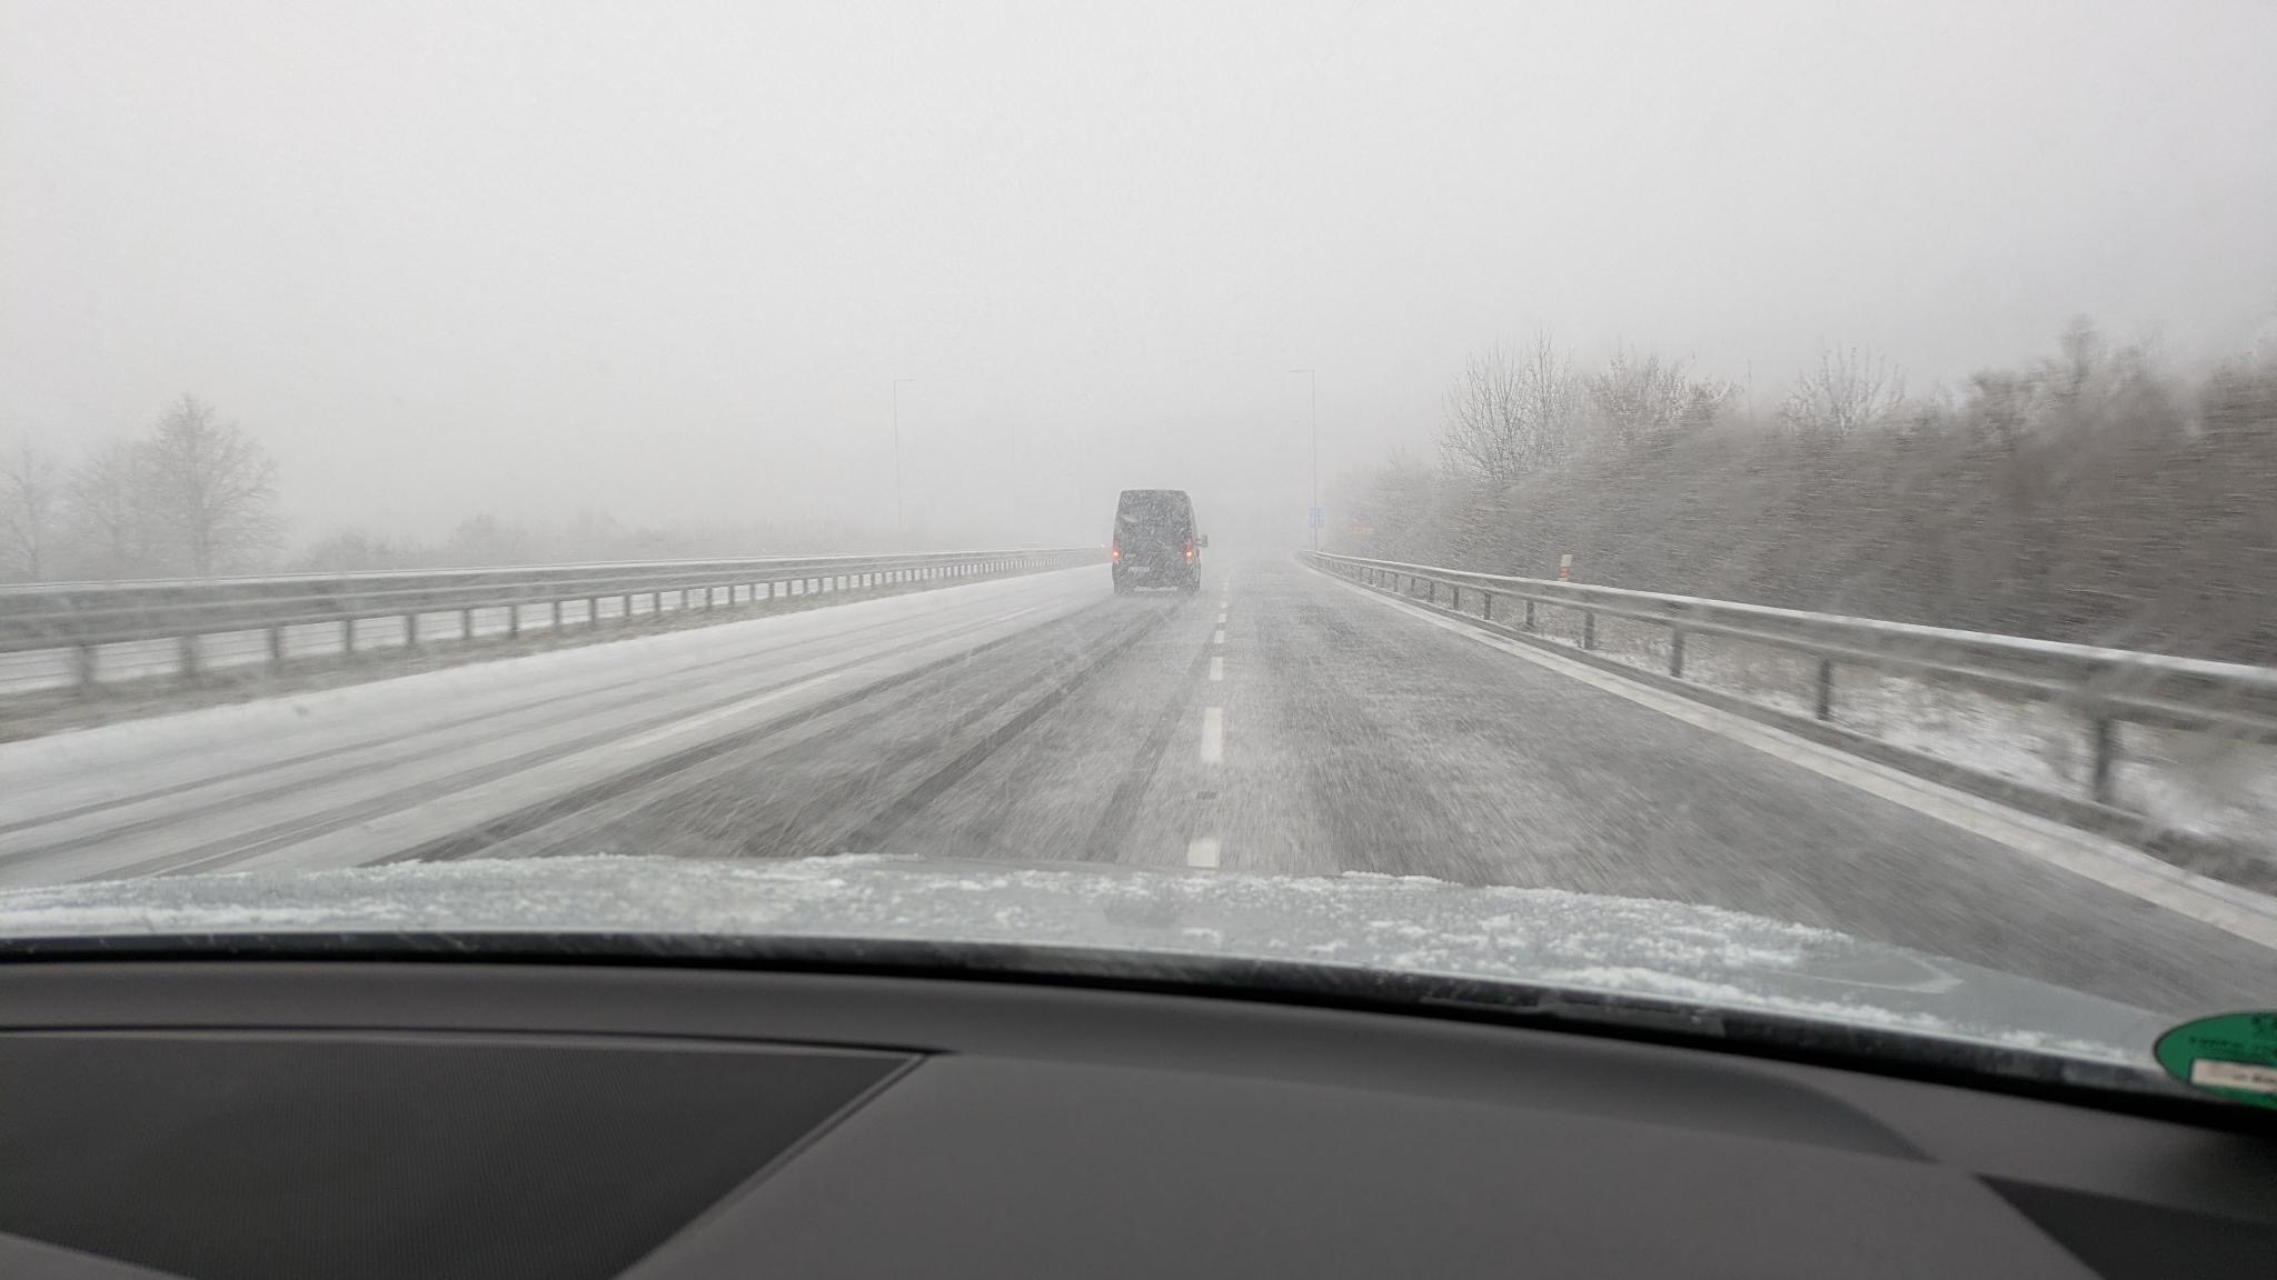
[{"label": "dark grey car dashboard below the windshield", "polygon": [[1448,1011],[542,959],[0,963],[0,1275],[2186,1275],[2266,1116]]}]

